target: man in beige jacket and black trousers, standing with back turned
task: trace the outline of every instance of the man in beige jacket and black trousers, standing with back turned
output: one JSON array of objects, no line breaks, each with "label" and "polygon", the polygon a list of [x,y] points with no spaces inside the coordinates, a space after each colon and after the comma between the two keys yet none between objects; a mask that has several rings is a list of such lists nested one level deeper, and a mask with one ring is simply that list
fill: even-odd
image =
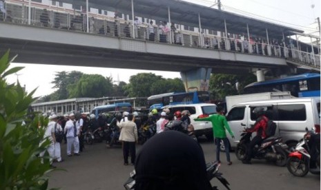
[{"label": "man in beige jacket and black trousers, standing with back turned", "polygon": [[133,122],[133,114],[128,114],[127,121],[121,123],[117,121],[117,126],[121,130],[119,140],[123,142],[124,165],[128,165],[129,152],[131,164],[134,165],[136,158],[135,142],[138,140],[138,135],[137,126],[135,122]]}]

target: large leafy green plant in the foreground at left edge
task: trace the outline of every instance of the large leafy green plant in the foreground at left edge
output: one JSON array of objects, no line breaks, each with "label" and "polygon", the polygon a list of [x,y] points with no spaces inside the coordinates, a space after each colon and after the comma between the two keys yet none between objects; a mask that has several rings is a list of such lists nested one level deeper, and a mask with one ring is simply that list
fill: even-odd
[{"label": "large leafy green plant in the foreground at left edge", "polygon": [[39,154],[50,143],[43,141],[41,127],[48,123],[30,112],[35,90],[26,94],[18,81],[6,82],[6,76],[23,68],[9,66],[8,51],[0,59],[0,189],[47,189],[50,162]]}]

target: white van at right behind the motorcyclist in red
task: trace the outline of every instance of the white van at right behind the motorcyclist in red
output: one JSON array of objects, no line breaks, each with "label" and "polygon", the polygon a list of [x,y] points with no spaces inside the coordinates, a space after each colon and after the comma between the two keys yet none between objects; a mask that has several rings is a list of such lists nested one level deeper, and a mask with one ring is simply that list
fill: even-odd
[{"label": "white van at right behind the motorcyclist in red", "polygon": [[240,142],[243,127],[254,125],[256,118],[252,111],[255,107],[264,107],[267,117],[277,125],[275,136],[282,136],[283,142],[289,147],[295,146],[303,138],[305,127],[320,129],[320,97],[239,103],[226,114],[228,125],[235,134],[235,139],[228,136],[231,149]]}]

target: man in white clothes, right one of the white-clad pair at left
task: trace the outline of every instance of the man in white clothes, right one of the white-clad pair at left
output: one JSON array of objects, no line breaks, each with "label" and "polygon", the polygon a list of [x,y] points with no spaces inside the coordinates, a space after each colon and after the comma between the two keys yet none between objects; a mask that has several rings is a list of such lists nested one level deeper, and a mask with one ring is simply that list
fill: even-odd
[{"label": "man in white clothes, right one of the white-clad pair at left", "polygon": [[77,137],[77,128],[75,124],[75,114],[69,115],[69,120],[65,126],[65,133],[67,137],[67,155],[72,156],[71,149],[74,146],[74,154],[79,156],[79,139]]}]

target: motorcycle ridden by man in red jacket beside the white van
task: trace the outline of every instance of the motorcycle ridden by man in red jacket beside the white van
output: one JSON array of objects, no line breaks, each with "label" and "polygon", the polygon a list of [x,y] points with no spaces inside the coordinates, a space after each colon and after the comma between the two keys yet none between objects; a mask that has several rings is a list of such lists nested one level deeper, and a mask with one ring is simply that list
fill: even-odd
[{"label": "motorcycle ridden by man in red jacket beside the white van", "polygon": [[[244,130],[241,136],[235,154],[238,160],[245,160],[252,133]],[[255,145],[253,152],[253,158],[271,160],[280,167],[286,165],[286,158],[289,154],[288,146],[282,143],[282,138],[274,136],[264,139],[260,146]]]}]

